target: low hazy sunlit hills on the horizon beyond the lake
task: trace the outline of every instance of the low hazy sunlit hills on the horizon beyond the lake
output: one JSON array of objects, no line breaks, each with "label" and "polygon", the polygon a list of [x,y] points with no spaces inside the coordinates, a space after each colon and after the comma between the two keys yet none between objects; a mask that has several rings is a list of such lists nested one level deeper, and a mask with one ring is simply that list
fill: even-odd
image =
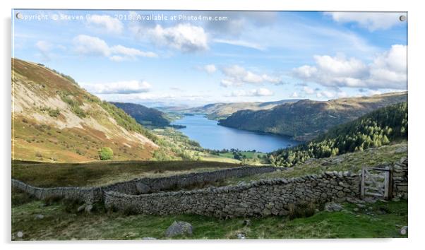
[{"label": "low hazy sunlit hills on the horizon beyond the lake", "polygon": [[[189,109],[179,109],[179,112],[191,114],[206,114],[209,119],[224,119],[229,117],[234,112],[242,109],[263,110],[272,109],[277,105],[282,105],[289,102],[297,102],[299,99],[279,100],[275,102],[230,102],[230,103],[212,103],[202,107],[193,107]],[[174,109],[175,111],[176,109]]]}]

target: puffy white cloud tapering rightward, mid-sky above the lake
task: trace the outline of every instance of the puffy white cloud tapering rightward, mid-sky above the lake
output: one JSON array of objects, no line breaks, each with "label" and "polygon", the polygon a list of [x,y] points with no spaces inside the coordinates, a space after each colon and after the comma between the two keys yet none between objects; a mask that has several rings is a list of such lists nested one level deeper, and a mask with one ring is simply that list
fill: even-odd
[{"label": "puffy white cloud tapering rightward, mid-sky above the lake", "polygon": [[225,79],[221,81],[221,85],[224,87],[229,86],[240,86],[245,83],[275,83],[278,84],[281,82],[280,78],[275,76],[268,76],[267,74],[257,74],[251,71],[244,69],[239,65],[233,65],[228,67],[223,67],[220,69],[222,73],[226,76]]}]

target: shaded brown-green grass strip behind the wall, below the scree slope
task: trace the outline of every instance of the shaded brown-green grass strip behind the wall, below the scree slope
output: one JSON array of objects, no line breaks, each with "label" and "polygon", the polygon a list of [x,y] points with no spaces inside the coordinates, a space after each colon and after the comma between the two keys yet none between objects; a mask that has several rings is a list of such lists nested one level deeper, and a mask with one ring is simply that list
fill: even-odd
[{"label": "shaded brown-green grass strip behind the wall, below the scree slope", "polygon": [[127,161],[88,163],[12,162],[12,178],[42,186],[101,186],[141,177],[164,177],[187,172],[240,167],[225,162]]}]

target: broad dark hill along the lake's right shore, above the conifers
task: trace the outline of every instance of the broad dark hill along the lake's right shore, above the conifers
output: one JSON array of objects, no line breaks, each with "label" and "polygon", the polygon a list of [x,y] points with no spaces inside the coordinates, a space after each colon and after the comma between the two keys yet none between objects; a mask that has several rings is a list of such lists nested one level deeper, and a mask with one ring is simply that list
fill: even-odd
[{"label": "broad dark hill along the lake's right shore, above the conifers", "polygon": [[268,110],[239,110],[219,121],[222,126],[291,136],[309,141],[331,127],[375,109],[407,101],[407,92],[329,101],[299,100]]}]

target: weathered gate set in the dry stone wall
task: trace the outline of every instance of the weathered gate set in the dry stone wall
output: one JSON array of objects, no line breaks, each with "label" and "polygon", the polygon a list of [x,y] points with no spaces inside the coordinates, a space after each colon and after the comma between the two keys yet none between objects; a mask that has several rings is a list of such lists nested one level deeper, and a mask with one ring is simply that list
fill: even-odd
[{"label": "weathered gate set in the dry stone wall", "polygon": [[390,167],[361,168],[361,198],[377,196],[389,200],[393,198],[393,169]]}]

